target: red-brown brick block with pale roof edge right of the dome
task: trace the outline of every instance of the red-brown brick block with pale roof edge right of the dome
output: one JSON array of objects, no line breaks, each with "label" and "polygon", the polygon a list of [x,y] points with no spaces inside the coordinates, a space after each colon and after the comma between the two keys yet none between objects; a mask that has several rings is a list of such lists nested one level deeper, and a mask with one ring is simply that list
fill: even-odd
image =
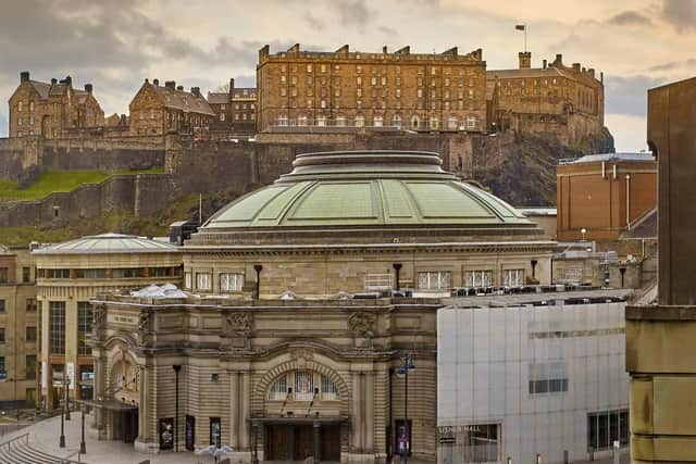
[{"label": "red-brown brick block with pale roof edge right of the dome", "polygon": [[556,181],[559,241],[617,240],[657,205],[651,154],[591,154],[559,164]]}]

